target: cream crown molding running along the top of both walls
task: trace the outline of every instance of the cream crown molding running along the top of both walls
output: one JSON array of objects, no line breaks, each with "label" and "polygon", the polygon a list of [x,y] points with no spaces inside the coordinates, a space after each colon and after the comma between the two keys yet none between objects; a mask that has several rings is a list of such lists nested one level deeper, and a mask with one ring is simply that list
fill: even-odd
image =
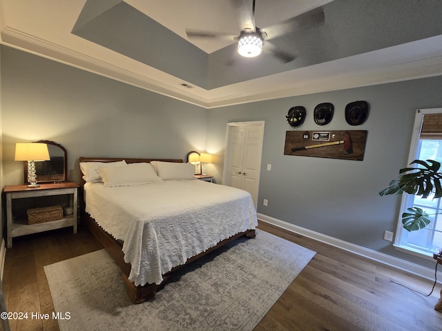
[{"label": "cream crown molding running along the top of both walls", "polygon": [[[110,79],[115,79],[123,83],[137,86],[144,90],[162,94],[173,99],[178,99],[186,103],[191,103],[202,108],[220,108],[232,106],[241,103],[250,103],[255,101],[264,101],[269,99],[279,99],[284,97],[294,97],[297,95],[327,92],[332,90],[343,90],[346,88],[356,88],[362,86],[372,86],[381,83],[391,83],[396,81],[405,81],[410,79],[420,79],[424,77],[433,77],[442,75],[442,56],[431,59],[422,59],[401,63],[395,66],[373,68],[367,70],[353,70],[345,74],[332,73],[321,78],[293,79],[298,83],[283,83],[280,86],[271,88],[253,88],[250,92],[240,92],[238,94],[225,93],[222,97],[211,97],[211,94],[220,94],[213,90],[205,90],[192,83],[178,79],[160,70],[145,66],[148,70],[156,70],[155,75],[161,77],[162,81],[146,77],[146,74],[138,74],[135,71],[127,70],[115,66],[111,63],[101,61],[90,57],[81,52],[59,46],[50,41],[26,34],[14,28],[4,27],[1,31],[1,43],[17,48],[32,54],[36,54],[68,66],[73,66],[81,70],[93,72]],[[118,54],[121,56],[120,54]],[[340,59],[336,61],[343,61]],[[323,66],[330,63],[321,63],[316,66]],[[312,67],[316,67],[312,66]],[[312,67],[302,68],[309,70]],[[293,74],[288,72],[287,74]],[[263,80],[268,77],[262,77]],[[167,83],[164,83],[166,81]],[[253,81],[260,81],[256,79]],[[185,88],[180,83],[188,83],[193,88]],[[240,83],[253,85],[252,81]],[[222,90],[222,88],[220,88]],[[238,89],[238,90],[244,90]]]}]

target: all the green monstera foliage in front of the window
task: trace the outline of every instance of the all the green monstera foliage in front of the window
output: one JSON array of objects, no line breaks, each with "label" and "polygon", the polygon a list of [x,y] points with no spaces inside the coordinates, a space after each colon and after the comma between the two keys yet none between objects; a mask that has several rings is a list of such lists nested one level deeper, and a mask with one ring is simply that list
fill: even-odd
[{"label": "all the green monstera foliage in front of the window", "polygon": [[[390,182],[390,186],[379,194],[402,194],[403,192],[419,196],[423,199],[433,195],[433,199],[442,197],[441,179],[439,172],[441,163],[434,160],[414,160],[410,165],[416,164],[418,168],[403,168],[399,170],[399,177]],[[430,224],[427,212],[421,208],[408,208],[402,214],[402,224],[405,230],[416,231]]]}]

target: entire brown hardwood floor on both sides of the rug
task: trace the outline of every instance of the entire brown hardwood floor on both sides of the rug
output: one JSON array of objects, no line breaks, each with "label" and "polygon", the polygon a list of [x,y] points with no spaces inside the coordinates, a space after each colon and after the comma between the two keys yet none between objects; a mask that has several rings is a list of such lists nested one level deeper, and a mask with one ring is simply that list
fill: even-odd
[{"label": "entire brown hardwood floor on both sides of the rug", "polygon": [[[442,330],[434,310],[441,285],[431,297],[414,294],[390,280],[428,293],[432,281],[389,268],[350,252],[282,230],[259,228],[316,251],[315,257],[258,323],[255,331]],[[52,314],[44,265],[99,250],[83,227],[15,238],[6,252],[3,291],[9,312]],[[11,330],[59,330],[49,318],[10,321]]]}]

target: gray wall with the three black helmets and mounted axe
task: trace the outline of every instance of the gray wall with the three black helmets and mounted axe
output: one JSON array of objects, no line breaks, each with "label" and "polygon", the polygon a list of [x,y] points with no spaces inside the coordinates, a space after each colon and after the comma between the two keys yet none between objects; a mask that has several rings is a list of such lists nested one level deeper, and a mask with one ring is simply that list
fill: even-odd
[{"label": "gray wall with the three black helmets and mounted axe", "polygon": [[[379,197],[400,168],[407,164],[417,108],[441,106],[442,77],[365,88],[309,94],[209,110],[207,150],[220,150],[217,181],[222,179],[226,122],[265,121],[258,212],[342,239],[365,248],[432,265],[396,252],[383,240],[384,230],[395,232],[400,199]],[[365,100],[369,118],[362,126],[345,121],[347,103]],[[335,106],[332,123],[314,123],[318,103]],[[293,106],[305,106],[307,119],[298,130],[367,130],[363,161],[345,161],[284,155],[285,132],[293,130],[285,115]],[[271,171],[267,171],[271,163]],[[268,199],[267,207],[262,199]],[[433,268],[433,267],[431,267]]]}]

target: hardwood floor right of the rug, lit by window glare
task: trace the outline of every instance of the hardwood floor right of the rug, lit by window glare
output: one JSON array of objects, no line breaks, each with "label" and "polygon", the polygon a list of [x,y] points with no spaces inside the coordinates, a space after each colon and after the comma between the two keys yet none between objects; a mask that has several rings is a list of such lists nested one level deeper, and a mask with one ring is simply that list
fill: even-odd
[{"label": "hardwood floor right of the rug, lit by window glare", "polygon": [[440,285],[431,297],[422,297],[390,280],[426,294],[432,281],[273,225],[259,228],[317,253],[255,331],[442,330],[442,313],[434,310]]}]

